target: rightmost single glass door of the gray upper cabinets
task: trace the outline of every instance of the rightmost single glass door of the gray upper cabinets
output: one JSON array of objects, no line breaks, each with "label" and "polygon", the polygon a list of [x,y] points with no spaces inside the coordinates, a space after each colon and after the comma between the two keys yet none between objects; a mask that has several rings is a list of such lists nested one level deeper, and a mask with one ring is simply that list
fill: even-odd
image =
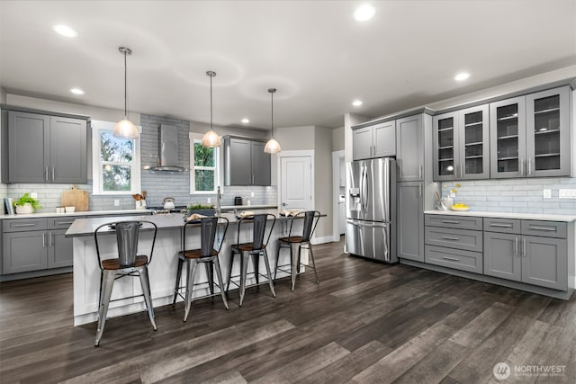
[{"label": "rightmost single glass door of the gray upper cabinets", "polygon": [[527,176],[569,176],[570,90],[568,86],[526,96]]}]

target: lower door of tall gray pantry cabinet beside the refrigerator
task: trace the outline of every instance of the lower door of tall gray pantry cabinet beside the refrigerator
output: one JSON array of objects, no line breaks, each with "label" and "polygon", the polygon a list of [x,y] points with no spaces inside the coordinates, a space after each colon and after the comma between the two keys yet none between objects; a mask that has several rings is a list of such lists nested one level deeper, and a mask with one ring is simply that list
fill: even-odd
[{"label": "lower door of tall gray pantry cabinet beside the refrigerator", "polygon": [[424,261],[423,183],[396,184],[397,253],[402,259]]}]

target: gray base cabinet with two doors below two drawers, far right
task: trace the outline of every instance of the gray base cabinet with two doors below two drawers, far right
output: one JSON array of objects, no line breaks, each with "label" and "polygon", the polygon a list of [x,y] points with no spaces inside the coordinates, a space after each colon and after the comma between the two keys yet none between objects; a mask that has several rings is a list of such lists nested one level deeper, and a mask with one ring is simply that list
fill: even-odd
[{"label": "gray base cabinet with two doors below two drawers, far right", "polygon": [[[494,224],[500,226],[496,227],[500,232],[484,232],[484,274],[555,290],[568,288],[567,239],[559,238],[566,237],[566,223],[484,220],[485,227],[490,223],[490,230],[495,230]],[[548,237],[531,236],[534,231]]]}]

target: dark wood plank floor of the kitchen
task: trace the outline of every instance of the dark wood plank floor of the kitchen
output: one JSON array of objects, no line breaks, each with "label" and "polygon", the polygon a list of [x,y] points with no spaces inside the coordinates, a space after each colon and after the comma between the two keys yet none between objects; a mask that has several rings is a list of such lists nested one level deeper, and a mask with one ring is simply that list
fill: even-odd
[{"label": "dark wood plank floor of the kitchen", "polygon": [[[297,281],[112,318],[101,346],[95,325],[72,326],[72,275],[0,285],[0,382],[498,382],[507,362],[566,366],[563,376],[505,382],[576,382],[576,299],[342,255],[316,246],[320,286]],[[562,368],[561,368],[562,369]],[[526,368],[524,368],[526,370]]]}]

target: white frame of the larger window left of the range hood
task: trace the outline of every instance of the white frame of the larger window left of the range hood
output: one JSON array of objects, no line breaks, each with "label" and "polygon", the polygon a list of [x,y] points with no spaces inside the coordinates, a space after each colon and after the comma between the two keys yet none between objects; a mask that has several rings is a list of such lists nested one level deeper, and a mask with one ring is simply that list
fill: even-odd
[{"label": "white frame of the larger window left of the range hood", "polygon": [[[92,194],[101,196],[113,196],[113,195],[132,195],[135,193],[140,193],[142,190],[141,183],[141,167],[140,167],[140,138],[134,138],[134,149],[132,162],[130,165],[130,191],[103,191],[103,177],[102,177],[102,167],[103,162],[100,158],[101,140],[100,133],[103,131],[110,131],[114,129],[115,122],[112,121],[91,121],[92,128]],[[136,126],[140,134],[142,133],[142,127]],[[108,162],[112,165],[127,165],[126,163],[120,162]]]}]

